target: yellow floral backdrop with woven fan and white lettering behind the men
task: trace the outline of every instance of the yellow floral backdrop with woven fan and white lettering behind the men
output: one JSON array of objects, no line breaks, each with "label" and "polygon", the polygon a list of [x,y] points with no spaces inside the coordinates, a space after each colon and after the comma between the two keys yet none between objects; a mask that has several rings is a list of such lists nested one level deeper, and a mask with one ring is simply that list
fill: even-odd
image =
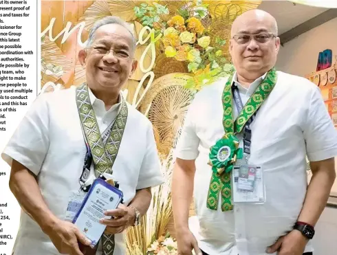
[{"label": "yellow floral backdrop with woven fan and white lettering behind the men", "polygon": [[[177,254],[171,205],[173,152],[184,115],[202,87],[233,71],[230,26],[261,1],[42,1],[41,92],[80,85],[78,52],[105,16],[133,25],[139,65],[122,91],[153,123],[166,182],[153,189],[142,224],[126,233],[128,253]],[[193,214],[193,208],[191,209]]]}]

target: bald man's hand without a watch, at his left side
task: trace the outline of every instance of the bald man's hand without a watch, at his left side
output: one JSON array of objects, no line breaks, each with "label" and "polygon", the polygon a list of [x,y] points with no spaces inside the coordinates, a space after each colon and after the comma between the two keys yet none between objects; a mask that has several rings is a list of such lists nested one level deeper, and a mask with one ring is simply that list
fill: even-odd
[{"label": "bald man's hand without a watch, at his left side", "polygon": [[198,247],[197,239],[190,230],[177,231],[178,255],[192,255],[194,250],[196,255],[202,255]]}]

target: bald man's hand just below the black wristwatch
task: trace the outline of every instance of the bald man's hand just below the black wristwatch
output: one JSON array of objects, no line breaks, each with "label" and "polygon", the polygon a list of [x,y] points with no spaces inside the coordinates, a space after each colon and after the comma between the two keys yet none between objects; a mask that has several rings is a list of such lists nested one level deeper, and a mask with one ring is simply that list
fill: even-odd
[{"label": "bald man's hand just below the black wristwatch", "polygon": [[302,255],[308,240],[298,230],[281,236],[274,245],[268,247],[267,253],[278,252],[278,255]]}]

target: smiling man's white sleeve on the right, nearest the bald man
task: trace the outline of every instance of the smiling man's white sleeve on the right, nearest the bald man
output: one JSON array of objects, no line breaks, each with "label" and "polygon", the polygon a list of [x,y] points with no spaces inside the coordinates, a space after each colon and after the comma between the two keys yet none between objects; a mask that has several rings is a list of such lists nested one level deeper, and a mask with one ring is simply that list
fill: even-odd
[{"label": "smiling man's white sleeve on the right, nearest the bald man", "polygon": [[142,161],[142,166],[140,167],[136,189],[140,190],[142,188],[155,187],[163,183],[164,177],[160,167],[160,159],[155,144],[153,127],[150,122],[146,132],[146,152]]}]

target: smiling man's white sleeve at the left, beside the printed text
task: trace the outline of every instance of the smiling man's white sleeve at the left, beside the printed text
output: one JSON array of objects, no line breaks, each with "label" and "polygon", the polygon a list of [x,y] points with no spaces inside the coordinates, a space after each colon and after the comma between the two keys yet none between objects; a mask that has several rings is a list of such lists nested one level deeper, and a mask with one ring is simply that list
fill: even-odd
[{"label": "smiling man's white sleeve at the left, beside the printed text", "polygon": [[49,118],[45,95],[38,96],[14,131],[1,157],[12,166],[12,159],[38,175],[49,148]]}]

